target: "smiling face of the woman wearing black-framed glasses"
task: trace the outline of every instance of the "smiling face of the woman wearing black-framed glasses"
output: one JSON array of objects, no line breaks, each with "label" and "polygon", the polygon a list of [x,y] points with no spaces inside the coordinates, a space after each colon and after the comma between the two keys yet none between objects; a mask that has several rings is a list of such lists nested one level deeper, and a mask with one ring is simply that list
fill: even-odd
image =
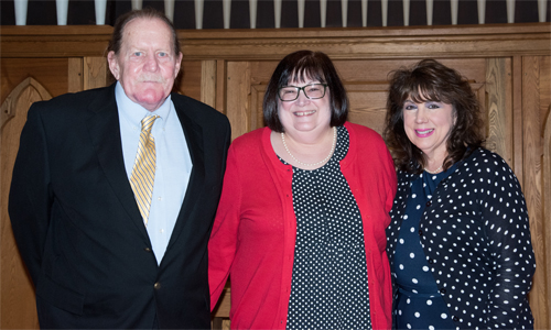
[{"label": "smiling face of the woman wearing black-framed glasses", "polygon": [[[288,86],[303,87],[311,84],[321,84],[318,80],[291,80]],[[320,133],[331,128],[329,89],[321,99],[309,99],[304,91],[299,92],[294,101],[278,101],[278,114],[283,130],[293,133]]]}]

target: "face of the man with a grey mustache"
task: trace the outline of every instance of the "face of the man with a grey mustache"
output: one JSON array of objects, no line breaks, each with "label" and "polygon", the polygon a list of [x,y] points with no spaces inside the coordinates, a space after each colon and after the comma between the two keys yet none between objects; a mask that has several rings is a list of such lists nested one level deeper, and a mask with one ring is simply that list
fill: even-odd
[{"label": "face of the man with a grey mustache", "polygon": [[172,33],[159,19],[127,23],[119,54],[109,52],[109,69],[136,103],[154,111],[166,99],[180,72],[182,53],[172,50]]}]

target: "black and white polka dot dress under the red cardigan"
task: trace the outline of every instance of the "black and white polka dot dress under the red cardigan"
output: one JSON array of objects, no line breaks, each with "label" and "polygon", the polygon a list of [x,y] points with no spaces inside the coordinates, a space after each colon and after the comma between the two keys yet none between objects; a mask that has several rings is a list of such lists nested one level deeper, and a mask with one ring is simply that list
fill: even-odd
[{"label": "black and white polka dot dress under the red cardigan", "polygon": [[296,243],[287,329],[371,328],[361,217],[339,165],[348,143],[339,127],[324,166],[293,167]]}]

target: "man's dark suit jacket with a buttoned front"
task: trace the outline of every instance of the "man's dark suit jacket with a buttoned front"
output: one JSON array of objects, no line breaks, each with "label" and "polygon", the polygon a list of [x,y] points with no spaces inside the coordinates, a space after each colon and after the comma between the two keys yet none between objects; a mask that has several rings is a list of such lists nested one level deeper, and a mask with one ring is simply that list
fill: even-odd
[{"label": "man's dark suit jacket with a buttoned front", "polygon": [[230,142],[210,107],[172,95],[193,169],[158,266],[122,160],[115,85],[34,103],[9,213],[42,328],[210,327],[207,241]]}]

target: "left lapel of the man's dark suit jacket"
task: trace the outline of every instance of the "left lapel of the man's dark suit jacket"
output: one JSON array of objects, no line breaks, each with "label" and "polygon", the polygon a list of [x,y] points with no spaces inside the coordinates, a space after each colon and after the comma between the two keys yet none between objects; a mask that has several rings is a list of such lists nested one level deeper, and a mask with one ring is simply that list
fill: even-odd
[{"label": "left lapel of the man's dark suit jacket", "polygon": [[149,240],[125,169],[115,85],[106,88],[102,97],[90,103],[88,110],[91,114],[88,131],[101,169],[133,226]]}]

